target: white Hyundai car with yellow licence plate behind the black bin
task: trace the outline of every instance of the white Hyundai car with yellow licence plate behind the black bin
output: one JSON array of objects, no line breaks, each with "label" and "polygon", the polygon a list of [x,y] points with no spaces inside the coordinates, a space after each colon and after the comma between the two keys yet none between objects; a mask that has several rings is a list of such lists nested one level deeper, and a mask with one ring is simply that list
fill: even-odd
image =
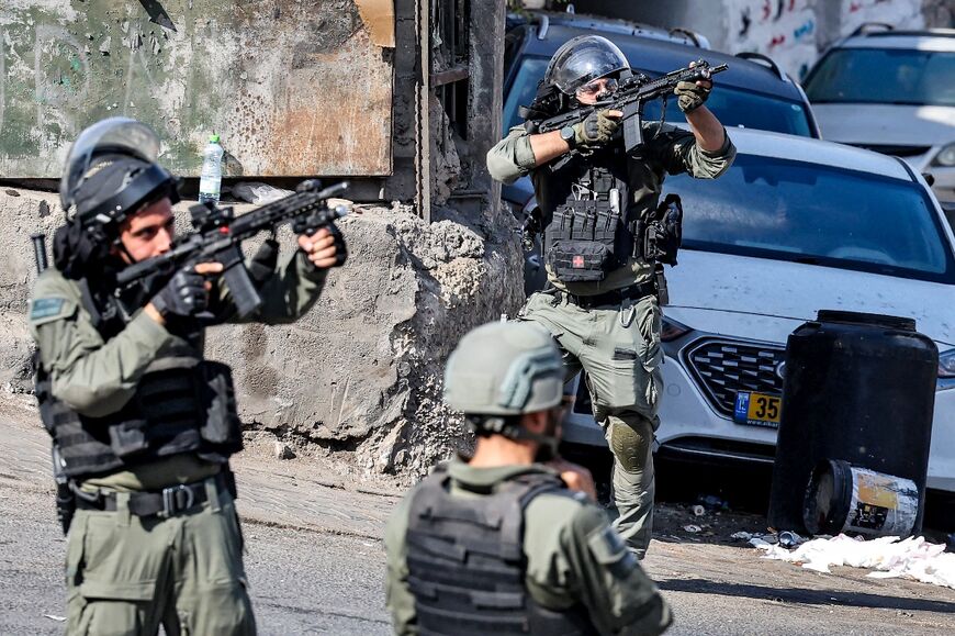
[{"label": "white Hyundai car with yellow licence plate behind the black bin", "polygon": [[[734,403],[739,391],[782,392],[789,334],[820,309],[908,316],[941,354],[929,488],[955,492],[955,237],[937,200],[894,157],[730,135],[739,155],[726,175],[664,183],[683,198],[685,221],[679,265],[666,272],[658,443],[772,462],[773,417],[739,423]],[[586,391],[577,393],[564,437],[602,445]]]}]

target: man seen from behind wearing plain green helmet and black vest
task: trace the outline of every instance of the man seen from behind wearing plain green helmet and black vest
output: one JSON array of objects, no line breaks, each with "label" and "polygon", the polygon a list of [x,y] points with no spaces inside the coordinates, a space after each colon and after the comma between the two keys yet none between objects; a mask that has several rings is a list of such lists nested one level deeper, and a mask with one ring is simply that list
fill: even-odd
[{"label": "man seen from behind wearing plain green helmet and black vest", "polygon": [[478,327],[451,354],[445,402],[478,439],[470,460],[438,467],[389,521],[395,634],[627,636],[670,625],[604,512],[540,464],[560,440],[562,388],[560,353],[530,323]]}]

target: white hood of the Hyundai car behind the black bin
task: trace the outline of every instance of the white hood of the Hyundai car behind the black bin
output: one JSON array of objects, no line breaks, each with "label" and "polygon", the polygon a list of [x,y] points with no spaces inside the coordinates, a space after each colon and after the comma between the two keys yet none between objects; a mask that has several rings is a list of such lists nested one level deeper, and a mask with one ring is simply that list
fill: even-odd
[{"label": "white hood of the Hyundai car behind the black bin", "polygon": [[953,284],[690,249],[666,280],[665,315],[705,332],[785,343],[827,309],[912,317],[941,349],[955,346]]}]

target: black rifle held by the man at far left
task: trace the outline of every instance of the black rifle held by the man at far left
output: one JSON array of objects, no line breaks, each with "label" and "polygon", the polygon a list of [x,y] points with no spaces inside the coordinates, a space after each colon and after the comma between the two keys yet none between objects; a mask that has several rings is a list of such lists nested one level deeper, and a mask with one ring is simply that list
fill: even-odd
[{"label": "black rifle held by the man at far left", "polygon": [[116,282],[122,289],[154,274],[171,274],[177,269],[214,260],[223,265],[223,278],[238,315],[247,316],[261,306],[262,299],[246,269],[241,242],[259,232],[274,232],[289,221],[295,234],[312,235],[344,216],[347,213],[345,208],[328,208],[327,199],[344,192],[348,182],[342,181],[324,190],[318,187],[318,181],[314,179],[302,181],[293,194],[241,216],[236,216],[232,208],[220,208],[212,202],[193,205],[189,213],[195,232],[177,239],[166,254],[124,268],[116,275]]}]

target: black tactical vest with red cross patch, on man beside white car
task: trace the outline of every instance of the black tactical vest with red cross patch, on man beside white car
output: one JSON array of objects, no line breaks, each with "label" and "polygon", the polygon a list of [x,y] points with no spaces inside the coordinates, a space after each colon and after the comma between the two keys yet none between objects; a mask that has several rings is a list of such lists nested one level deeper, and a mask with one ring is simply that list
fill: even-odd
[{"label": "black tactical vest with red cross patch, on man beside white car", "polygon": [[[622,146],[566,155],[535,179],[543,212],[543,256],[563,282],[597,282],[630,258],[676,264],[682,208],[670,194],[659,208],[634,210]],[[662,180],[662,175],[656,177]],[[675,203],[674,203],[675,202]],[[678,215],[673,210],[679,209]]]}]

